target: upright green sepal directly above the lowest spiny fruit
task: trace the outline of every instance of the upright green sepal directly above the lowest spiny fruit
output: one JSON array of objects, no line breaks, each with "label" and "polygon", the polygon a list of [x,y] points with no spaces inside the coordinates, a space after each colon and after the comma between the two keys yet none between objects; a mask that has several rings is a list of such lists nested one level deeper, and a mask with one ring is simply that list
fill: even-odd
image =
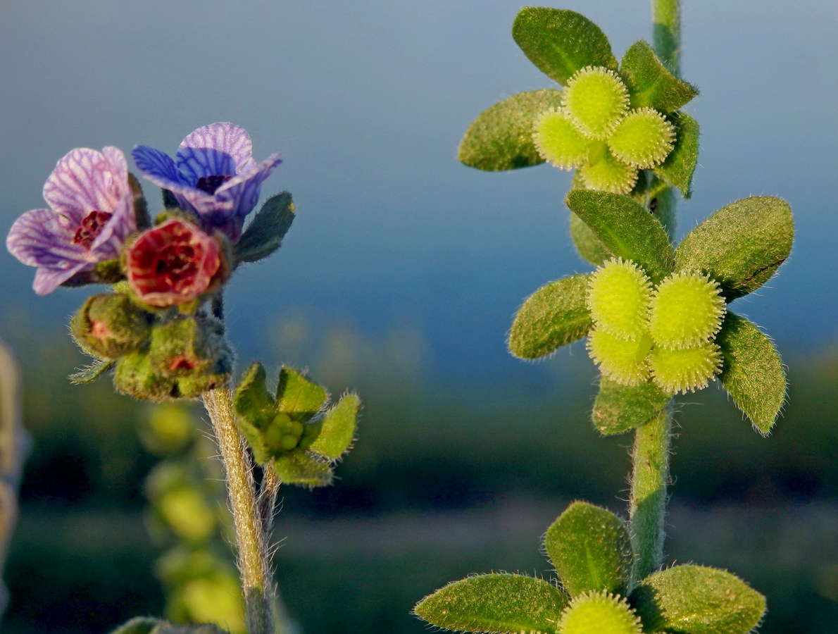
[{"label": "upright green sepal directly above the lowest spiny fruit", "polygon": [[544,548],[571,597],[602,591],[627,594],[631,540],[623,520],[613,512],[573,502],[547,529]]}]

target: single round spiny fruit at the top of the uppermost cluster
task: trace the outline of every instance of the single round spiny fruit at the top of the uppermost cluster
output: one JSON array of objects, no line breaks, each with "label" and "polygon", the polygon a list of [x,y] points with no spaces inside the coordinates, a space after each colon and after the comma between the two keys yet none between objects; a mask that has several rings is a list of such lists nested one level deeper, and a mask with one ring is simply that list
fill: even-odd
[{"label": "single round spiny fruit at the top of the uppermost cluster", "polygon": [[613,70],[586,66],[567,81],[562,105],[582,134],[604,139],[629,107],[629,91]]}]

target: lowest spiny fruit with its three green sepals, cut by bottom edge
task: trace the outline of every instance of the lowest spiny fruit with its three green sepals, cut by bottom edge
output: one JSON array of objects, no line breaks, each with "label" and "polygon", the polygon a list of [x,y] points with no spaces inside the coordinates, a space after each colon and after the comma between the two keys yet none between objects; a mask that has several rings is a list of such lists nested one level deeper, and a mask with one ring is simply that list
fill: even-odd
[{"label": "lowest spiny fruit with its three green sepals, cut by bottom edge", "polygon": [[455,581],[416,605],[456,631],[544,634],[746,634],[765,599],[724,570],[696,565],[632,576],[629,530],[619,517],[574,502],[547,529],[556,579],[481,574]]}]

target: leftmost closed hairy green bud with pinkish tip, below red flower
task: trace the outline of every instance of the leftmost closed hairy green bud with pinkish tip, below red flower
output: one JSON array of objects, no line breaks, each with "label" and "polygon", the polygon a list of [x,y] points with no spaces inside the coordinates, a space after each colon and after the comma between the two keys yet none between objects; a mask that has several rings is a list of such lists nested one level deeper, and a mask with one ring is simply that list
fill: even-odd
[{"label": "leftmost closed hairy green bud with pinkish tip, below red flower", "polygon": [[124,294],[87,299],[70,328],[82,350],[98,359],[116,359],[137,350],[152,331],[153,316]]}]

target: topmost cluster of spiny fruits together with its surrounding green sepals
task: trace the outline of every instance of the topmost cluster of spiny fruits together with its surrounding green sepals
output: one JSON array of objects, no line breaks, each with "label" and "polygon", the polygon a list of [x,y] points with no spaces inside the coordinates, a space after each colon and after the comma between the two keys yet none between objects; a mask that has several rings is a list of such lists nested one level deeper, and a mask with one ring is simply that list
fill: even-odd
[{"label": "topmost cluster of spiny fruits together with its surrounding green sepals", "polygon": [[698,124],[680,107],[698,94],[639,40],[618,65],[596,24],[566,9],[526,7],[512,27],[524,54],[564,90],[522,92],[474,120],[459,159],[487,171],[550,163],[588,189],[628,194],[650,169],[690,195]]}]

